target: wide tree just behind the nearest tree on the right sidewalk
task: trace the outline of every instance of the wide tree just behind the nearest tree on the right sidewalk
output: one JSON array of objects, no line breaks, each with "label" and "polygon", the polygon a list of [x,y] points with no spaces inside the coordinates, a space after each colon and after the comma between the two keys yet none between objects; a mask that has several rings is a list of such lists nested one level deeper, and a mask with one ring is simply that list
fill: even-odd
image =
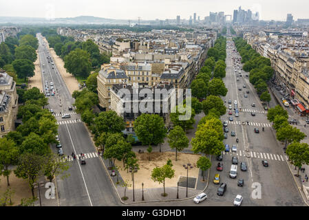
[{"label": "wide tree just behind the nearest tree on the right sidewalk", "polygon": [[288,143],[291,143],[293,141],[300,142],[301,140],[303,140],[303,138],[306,137],[304,133],[302,133],[295,126],[291,126],[290,124],[288,124],[287,126],[282,126],[280,129],[278,129],[276,136],[277,140],[281,142],[285,141],[286,146]]}]

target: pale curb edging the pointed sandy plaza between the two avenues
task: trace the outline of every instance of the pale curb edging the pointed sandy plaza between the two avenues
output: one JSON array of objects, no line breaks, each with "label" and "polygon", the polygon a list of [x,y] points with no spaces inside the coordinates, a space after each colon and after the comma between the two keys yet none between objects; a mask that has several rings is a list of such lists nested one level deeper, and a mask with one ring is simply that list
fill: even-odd
[{"label": "pale curb edging the pointed sandy plaza between the two avenues", "polygon": [[[90,133],[88,127],[86,126],[85,122],[83,122],[83,124],[85,125],[85,127],[86,127],[86,129],[87,129],[87,132],[89,133],[90,139],[92,140],[92,136],[91,136],[91,133]],[[92,143],[94,144],[94,140],[92,140]],[[96,153],[98,153],[98,151],[97,151],[95,145],[94,145],[94,148],[95,148],[95,150],[96,150]],[[210,157],[209,159],[211,159],[211,155],[210,155],[209,157]],[[134,202],[125,202],[125,201],[122,201],[122,199],[120,198],[120,195],[119,195],[119,193],[118,193],[118,190],[117,190],[117,188],[116,188],[116,186],[115,186],[115,184],[114,184],[114,181],[111,179],[111,176],[109,175],[108,170],[107,170],[107,168],[106,168],[106,166],[105,166],[105,164],[104,164],[104,162],[103,162],[103,160],[102,160],[102,157],[99,157],[99,158],[100,158],[100,162],[103,164],[103,167],[105,168],[105,171],[106,171],[106,173],[107,173],[107,175],[108,175],[108,177],[109,177],[109,181],[111,181],[111,184],[113,184],[114,190],[116,191],[116,194],[118,195],[118,198],[119,198],[119,200],[120,200],[120,202],[121,202],[122,204],[130,205],[130,204],[137,204],[137,203],[160,202],[160,201],[184,201],[184,200],[192,199],[192,198],[195,197],[195,196],[192,196],[192,197],[187,197],[187,198],[184,198],[184,199],[163,199],[163,200],[134,201]],[[210,172],[208,172],[206,186],[205,186],[205,188],[204,188],[203,190],[201,190],[200,192],[204,192],[204,191],[206,190],[206,188],[208,187],[208,184],[209,184],[209,173],[210,173]]]}]

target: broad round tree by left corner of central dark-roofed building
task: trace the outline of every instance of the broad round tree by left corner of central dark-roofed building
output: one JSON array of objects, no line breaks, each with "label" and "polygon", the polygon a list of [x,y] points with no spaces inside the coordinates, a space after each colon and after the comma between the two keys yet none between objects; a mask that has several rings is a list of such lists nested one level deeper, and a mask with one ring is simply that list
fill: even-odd
[{"label": "broad round tree by left corner of central dark-roofed building", "polygon": [[116,111],[103,111],[94,119],[96,137],[100,133],[120,133],[125,130],[125,122]]}]

